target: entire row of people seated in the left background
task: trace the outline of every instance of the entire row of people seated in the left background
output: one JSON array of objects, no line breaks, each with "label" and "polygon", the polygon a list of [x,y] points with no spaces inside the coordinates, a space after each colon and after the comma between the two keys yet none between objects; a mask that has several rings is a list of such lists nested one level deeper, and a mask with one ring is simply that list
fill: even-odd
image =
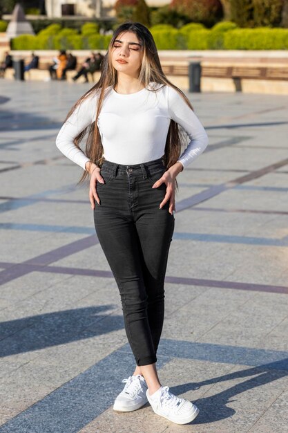
[{"label": "entire row of people seated in the left background", "polygon": [[[77,72],[73,77],[73,81],[78,80],[82,75],[85,78],[85,82],[88,82],[88,74],[91,75],[93,80],[93,74],[96,71],[100,71],[102,60],[104,56],[101,53],[91,53],[84,62],[80,65],[77,70],[77,57],[72,53],[66,53],[66,50],[61,50],[59,55],[53,57],[52,64],[48,66],[51,80],[66,80],[67,71]],[[0,62],[0,77],[5,76],[7,68],[13,68],[12,55],[8,51],[4,53],[3,60]],[[31,59],[24,65],[24,71],[30,71],[30,69],[39,68],[39,56],[35,53],[31,54]]]}]

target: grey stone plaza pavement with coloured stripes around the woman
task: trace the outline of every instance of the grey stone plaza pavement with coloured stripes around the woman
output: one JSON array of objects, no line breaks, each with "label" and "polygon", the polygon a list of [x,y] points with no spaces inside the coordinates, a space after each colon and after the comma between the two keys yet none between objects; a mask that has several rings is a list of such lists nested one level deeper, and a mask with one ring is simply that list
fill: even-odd
[{"label": "grey stone plaza pavement with coloured stripes around the woman", "polygon": [[160,380],[200,408],[113,412],[133,372],[81,169],[57,131],[88,89],[0,82],[0,432],[288,432],[288,97],[190,94],[209,147],[179,176]]}]

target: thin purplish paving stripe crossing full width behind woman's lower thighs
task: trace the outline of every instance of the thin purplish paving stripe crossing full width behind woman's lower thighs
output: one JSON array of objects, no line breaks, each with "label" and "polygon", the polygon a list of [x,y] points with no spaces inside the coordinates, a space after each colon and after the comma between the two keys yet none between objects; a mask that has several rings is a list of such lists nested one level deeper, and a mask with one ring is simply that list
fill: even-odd
[{"label": "thin purplish paving stripe crossing full width behind woman's lower thighs", "polygon": [[[26,274],[31,272],[44,272],[44,273],[59,273],[66,275],[81,275],[85,277],[101,277],[113,278],[110,270],[95,270],[86,268],[68,268],[66,266],[39,266],[37,264],[19,264],[22,265],[23,270],[26,269]],[[0,261],[0,268],[11,268],[17,266],[7,261]],[[0,273],[1,277],[1,273]],[[231,288],[235,290],[256,291],[267,293],[284,293],[288,294],[288,286],[271,286],[269,284],[254,284],[254,283],[239,283],[231,281],[220,281],[215,279],[199,279],[188,277],[173,277],[166,276],[166,283],[170,284],[183,284],[184,286],[201,286],[213,288]],[[1,284],[1,279],[0,279]],[[1,293],[0,293],[1,297]]]}]

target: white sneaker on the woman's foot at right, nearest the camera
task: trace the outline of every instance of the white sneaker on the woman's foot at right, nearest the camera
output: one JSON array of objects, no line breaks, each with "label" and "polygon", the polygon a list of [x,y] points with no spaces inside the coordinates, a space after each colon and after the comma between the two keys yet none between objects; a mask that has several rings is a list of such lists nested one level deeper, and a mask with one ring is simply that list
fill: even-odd
[{"label": "white sneaker on the woman's foot at right, nearest the camera", "polygon": [[190,423],[199,414],[197,406],[193,405],[189,400],[174,396],[174,394],[169,392],[169,387],[157,389],[152,396],[149,396],[147,390],[146,396],[155,414],[164,416],[164,418],[173,421],[173,423]]}]

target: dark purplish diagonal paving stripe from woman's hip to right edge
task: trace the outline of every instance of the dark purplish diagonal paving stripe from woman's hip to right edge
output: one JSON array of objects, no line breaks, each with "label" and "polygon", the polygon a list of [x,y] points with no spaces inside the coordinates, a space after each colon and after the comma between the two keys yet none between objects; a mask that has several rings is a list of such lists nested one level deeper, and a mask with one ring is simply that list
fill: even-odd
[{"label": "dark purplish diagonal paving stripe from woman's hip to right edge", "polygon": [[198,203],[202,203],[202,201],[206,201],[212,199],[217,196],[221,192],[230,190],[237,185],[241,185],[244,182],[252,181],[253,179],[259,178],[261,176],[265,176],[265,174],[271,173],[280,167],[284,167],[288,164],[288,158],[278,161],[278,163],[274,163],[271,165],[267,165],[261,169],[255,170],[254,172],[250,172],[245,174],[244,176],[240,176],[232,181],[228,181],[226,183],[222,183],[220,185],[215,185],[214,187],[208,188],[198,194],[195,194],[188,199],[184,199],[179,201],[176,205],[177,212],[181,212],[182,210],[186,210],[187,208],[191,208],[191,206],[195,206]]}]

